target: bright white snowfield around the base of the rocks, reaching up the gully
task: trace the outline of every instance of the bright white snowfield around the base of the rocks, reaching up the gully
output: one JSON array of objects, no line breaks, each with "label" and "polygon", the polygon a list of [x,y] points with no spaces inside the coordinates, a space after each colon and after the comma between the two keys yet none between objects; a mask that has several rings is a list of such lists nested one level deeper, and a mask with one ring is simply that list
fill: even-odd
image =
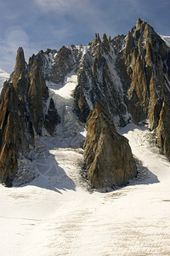
[{"label": "bright white snowfield around the base of the rocks, reaching up the gully", "polygon": [[169,161],[144,125],[129,124],[119,132],[139,177],[107,193],[89,189],[81,176],[86,132],[72,113],[68,83],[73,90],[74,74],[63,88],[48,84],[61,124],[54,137],[37,137],[29,164],[38,176],[20,187],[0,185],[0,255],[170,255]]}]

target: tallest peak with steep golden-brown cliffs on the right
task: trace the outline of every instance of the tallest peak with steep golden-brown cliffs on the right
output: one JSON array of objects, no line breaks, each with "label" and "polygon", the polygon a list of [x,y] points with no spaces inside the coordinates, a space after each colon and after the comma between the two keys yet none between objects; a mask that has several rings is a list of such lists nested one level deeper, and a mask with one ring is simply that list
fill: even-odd
[{"label": "tallest peak with steep golden-brown cliffs on the right", "polygon": [[[116,70],[122,80],[124,101],[134,122],[149,119],[150,129],[157,128],[161,137],[161,123],[167,124],[164,113],[169,116],[170,96],[170,49],[144,20],[138,20],[128,32],[124,48],[116,59]],[[163,103],[164,102],[164,103]],[[159,125],[158,125],[159,124]],[[170,136],[168,125],[164,125],[162,136]],[[169,149],[158,145],[169,157]],[[166,149],[167,148],[167,149]]]}]

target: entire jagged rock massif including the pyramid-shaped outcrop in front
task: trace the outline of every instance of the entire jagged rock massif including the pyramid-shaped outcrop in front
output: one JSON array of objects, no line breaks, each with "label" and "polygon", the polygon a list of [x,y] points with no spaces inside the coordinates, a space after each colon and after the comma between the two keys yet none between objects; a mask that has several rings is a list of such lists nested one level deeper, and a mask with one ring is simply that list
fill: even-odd
[{"label": "entire jagged rock massif including the pyramid-shaped outcrop in front", "polygon": [[[63,94],[66,82],[69,99]],[[67,134],[77,136],[79,131],[66,125],[72,118],[88,130],[84,162],[92,186],[125,185],[137,169],[127,139],[116,127],[147,122],[170,159],[169,99],[170,49],[144,20],[127,36],[111,39],[104,34],[100,39],[96,33],[88,46],[40,50],[28,64],[20,47],[0,97],[1,182],[13,183],[20,155],[28,157],[35,137],[43,137],[44,131],[54,136],[65,122]]]}]

